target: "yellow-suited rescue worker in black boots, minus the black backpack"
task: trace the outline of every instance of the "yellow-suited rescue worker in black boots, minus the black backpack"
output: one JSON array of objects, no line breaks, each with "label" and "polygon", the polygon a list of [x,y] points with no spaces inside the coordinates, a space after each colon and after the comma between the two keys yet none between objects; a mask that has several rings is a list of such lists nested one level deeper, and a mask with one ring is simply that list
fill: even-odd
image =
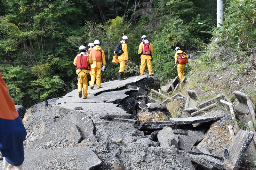
[{"label": "yellow-suited rescue worker in black boots, minus the black backpack", "polygon": [[128,49],[127,49],[127,42],[128,37],[126,35],[124,35],[122,37],[122,41],[120,41],[119,43],[122,43],[122,50],[123,53],[121,55],[118,56],[118,60],[119,60],[119,75],[118,75],[118,80],[125,80],[127,77],[124,77],[124,70],[125,70],[125,62],[128,63],[129,62],[129,57],[128,57]]}]

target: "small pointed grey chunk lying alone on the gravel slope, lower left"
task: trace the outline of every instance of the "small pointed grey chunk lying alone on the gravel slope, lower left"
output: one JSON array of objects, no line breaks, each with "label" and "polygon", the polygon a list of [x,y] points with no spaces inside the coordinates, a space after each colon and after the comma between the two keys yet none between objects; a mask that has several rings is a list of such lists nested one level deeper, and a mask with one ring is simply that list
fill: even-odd
[{"label": "small pointed grey chunk lying alone on the gravel slope, lower left", "polygon": [[69,143],[75,143],[75,144],[78,144],[83,140],[81,132],[76,125],[73,125],[70,127],[66,135],[66,139]]}]

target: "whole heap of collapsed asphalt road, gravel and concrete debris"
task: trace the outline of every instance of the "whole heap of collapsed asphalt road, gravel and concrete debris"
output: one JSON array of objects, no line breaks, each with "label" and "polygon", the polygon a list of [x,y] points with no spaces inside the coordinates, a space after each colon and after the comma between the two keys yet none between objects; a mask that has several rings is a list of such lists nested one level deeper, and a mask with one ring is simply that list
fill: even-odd
[{"label": "whole heap of collapsed asphalt road, gravel and concrete debris", "polygon": [[[252,168],[256,135],[250,97],[235,91],[236,106],[225,94],[200,103],[196,91],[188,90],[187,97],[177,92],[185,81],[176,77],[160,87],[157,77],[143,75],[102,83],[88,89],[87,99],[74,90],[26,113],[17,106],[28,132],[23,169]],[[178,118],[166,107],[173,100],[181,103]],[[249,130],[239,128],[241,122]]]}]

